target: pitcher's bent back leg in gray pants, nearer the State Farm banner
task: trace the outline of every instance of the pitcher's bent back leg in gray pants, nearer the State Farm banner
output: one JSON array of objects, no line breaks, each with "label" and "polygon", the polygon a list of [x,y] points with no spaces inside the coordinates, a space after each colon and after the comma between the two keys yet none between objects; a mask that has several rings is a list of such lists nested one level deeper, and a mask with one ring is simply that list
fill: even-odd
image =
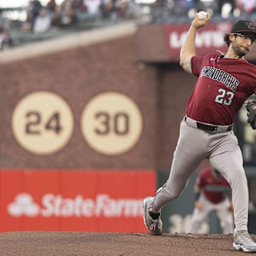
[{"label": "pitcher's bent back leg in gray pants, nearer the State Farm banner", "polygon": [[152,203],[152,211],[158,213],[161,208],[174,198],[177,198],[186,187],[189,178],[196,167],[206,158],[206,139],[200,129],[181,123],[181,132],[174,152],[169,178],[156,191]]}]

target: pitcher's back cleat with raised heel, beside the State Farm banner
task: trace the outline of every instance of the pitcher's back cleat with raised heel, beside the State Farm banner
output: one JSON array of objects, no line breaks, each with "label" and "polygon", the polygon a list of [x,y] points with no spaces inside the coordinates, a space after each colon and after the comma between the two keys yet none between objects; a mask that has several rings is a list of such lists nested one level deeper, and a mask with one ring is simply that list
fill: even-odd
[{"label": "pitcher's back cleat with raised heel, beside the State Farm banner", "polygon": [[144,224],[151,235],[161,235],[163,233],[163,223],[160,218],[160,213],[152,213],[149,210],[149,204],[153,200],[153,197],[147,197],[143,200]]}]

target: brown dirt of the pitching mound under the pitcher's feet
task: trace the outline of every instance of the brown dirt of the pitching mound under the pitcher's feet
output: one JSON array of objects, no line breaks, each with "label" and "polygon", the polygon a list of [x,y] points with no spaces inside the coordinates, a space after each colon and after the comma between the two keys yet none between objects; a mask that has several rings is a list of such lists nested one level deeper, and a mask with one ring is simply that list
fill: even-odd
[{"label": "brown dirt of the pitching mound under the pitcher's feet", "polygon": [[245,252],[233,250],[231,234],[151,236],[144,233],[11,232],[0,234],[0,255],[234,256],[245,255]]}]

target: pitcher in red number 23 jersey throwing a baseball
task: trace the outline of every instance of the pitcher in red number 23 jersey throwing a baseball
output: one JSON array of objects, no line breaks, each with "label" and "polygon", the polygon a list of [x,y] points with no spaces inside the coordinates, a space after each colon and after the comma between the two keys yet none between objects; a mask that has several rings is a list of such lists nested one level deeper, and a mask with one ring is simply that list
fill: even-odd
[{"label": "pitcher in red number 23 jersey throwing a baseball", "polygon": [[[224,36],[227,53],[196,55],[196,34],[210,21],[210,14],[195,14],[181,46],[180,64],[198,80],[181,121],[180,134],[169,178],[154,197],[144,198],[144,223],[152,235],[163,232],[161,208],[181,195],[203,159],[218,169],[232,189],[235,250],[256,252],[248,233],[249,192],[242,152],[233,132],[233,122],[245,100],[256,93],[256,66],[245,60],[256,41],[252,21],[237,21]],[[171,85],[170,85],[171,86]],[[175,86],[175,85],[174,85]],[[255,111],[255,110],[253,110]],[[250,113],[254,114],[251,110]],[[247,119],[255,120],[255,118]],[[256,129],[255,124],[252,125]]]}]

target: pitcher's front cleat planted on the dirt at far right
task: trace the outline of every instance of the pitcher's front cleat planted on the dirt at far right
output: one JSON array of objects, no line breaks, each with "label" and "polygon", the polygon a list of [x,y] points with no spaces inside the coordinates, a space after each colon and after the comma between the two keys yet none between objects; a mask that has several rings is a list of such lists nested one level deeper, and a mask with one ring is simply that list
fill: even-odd
[{"label": "pitcher's front cleat planted on the dirt at far right", "polygon": [[234,234],[233,247],[244,252],[256,252],[256,242],[252,240],[247,230],[238,230]]}]

